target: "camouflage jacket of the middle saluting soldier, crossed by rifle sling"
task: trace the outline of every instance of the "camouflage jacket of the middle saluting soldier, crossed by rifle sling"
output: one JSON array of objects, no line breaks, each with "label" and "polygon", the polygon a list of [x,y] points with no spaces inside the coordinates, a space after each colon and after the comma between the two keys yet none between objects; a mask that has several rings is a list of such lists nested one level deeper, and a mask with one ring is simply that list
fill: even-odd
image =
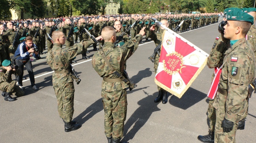
[{"label": "camouflage jacket of the middle saluting soldier, crossed by rifle sling", "polygon": [[[129,40],[122,47],[114,48],[112,42],[105,42],[103,52],[106,55],[110,65],[120,74],[124,72],[124,65],[126,60],[137,50],[142,35],[136,35],[132,40]],[[100,51],[97,51],[92,60],[95,71],[103,78],[119,78],[114,74],[110,67],[108,67],[104,58],[101,56]],[[108,83],[102,81],[102,90],[106,92],[120,91],[129,87],[124,81]]]}]

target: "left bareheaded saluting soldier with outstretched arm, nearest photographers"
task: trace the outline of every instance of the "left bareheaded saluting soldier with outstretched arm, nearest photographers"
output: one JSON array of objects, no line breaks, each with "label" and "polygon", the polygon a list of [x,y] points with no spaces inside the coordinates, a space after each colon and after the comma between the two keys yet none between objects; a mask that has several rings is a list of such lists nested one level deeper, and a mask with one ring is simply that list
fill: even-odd
[{"label": "left bareheaded saluting soldier with outstretched arm, nearest photographers", "polygon": [[52,33],[54,41],[53,48],[49,50],[46,57],[47,64],[54,70],[53,73],[53,88],[58,103],[59,117],[65,123],[65,131],[73,131],[79,129],[82,125],[76,124],[72,121],[74,113],[74,83],[70,74],[70,62],[78,53],[82,52],[82,47],[88,47],[93,43],[93,40],[82,40],[75,46],[61,48],[65,44],[66,37],[61,31],[54,31]]}]

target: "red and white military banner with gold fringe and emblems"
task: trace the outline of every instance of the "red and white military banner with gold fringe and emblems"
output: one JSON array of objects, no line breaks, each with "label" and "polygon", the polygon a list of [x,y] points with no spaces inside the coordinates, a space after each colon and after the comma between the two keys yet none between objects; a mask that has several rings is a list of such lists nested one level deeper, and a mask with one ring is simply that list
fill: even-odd
[{"label": "red and white military banner with gold fringe and emblems", "polygon": [[155,83],[181,98],[207,63],[208,54],[166,28]]}]

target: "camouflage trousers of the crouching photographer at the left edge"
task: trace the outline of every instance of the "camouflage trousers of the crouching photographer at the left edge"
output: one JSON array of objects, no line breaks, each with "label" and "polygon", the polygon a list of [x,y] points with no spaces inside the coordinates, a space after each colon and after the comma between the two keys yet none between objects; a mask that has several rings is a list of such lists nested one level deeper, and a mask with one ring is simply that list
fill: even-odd
[{"label": "camouflage trousers of the crouching photographer at the left edge", "polygon": [[11,83],[2,82],[0,84],[1,91],[8,92],[15,96],[23,96],[25,93],[24,91],[16,85],[16,81],[12,81]]}]

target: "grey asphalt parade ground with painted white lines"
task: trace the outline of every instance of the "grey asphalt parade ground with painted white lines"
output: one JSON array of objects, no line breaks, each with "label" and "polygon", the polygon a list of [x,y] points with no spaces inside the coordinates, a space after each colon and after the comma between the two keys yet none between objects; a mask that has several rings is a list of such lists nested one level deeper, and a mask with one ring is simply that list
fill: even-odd
[{"label": "grey asphalt parade ground with painted white lines", "polygon": [[[221,21],[221,20],[219,20]],[[218,33],[215,23],[180,35],[203,51],[210,53]],[[143,42],[145,41],[145,36]],[[155,103],[158,95],[154,82],[154,64],[148,59],[154,52],[154,41],[140,44],[127,60],[127,72],[137,84],[127,91],[127,117],[122,142],[129,143],[200,143],[198,135],[207,135],[207,93],[211,85],[213,69],[205,66],[181,99],[168,93],[168,103]],[[78,130],[65,132],[59,118],[57,99],[52,85],[52,69],[46,63],[46,54],[32,62],[35,84],[32,90],[28,72],[24,71],[25,96],[16,101],[0,100],[0,142],[3,143],[106,143],[104,111],[101,99],[102,78],[91,65],[95,51],[89,47],[87,60],[78,55],[72,64],[82,79],[75,84],[73,120],[82,124]],[[14,76],[13,76],[14,79]],[[15,97],[15,96],[13,96]],[[15,97],[16,98],[16,97]],[[256,94],[249,100],[245,129],[238,130],[238,143],[254,143],[256,128]]]}]

